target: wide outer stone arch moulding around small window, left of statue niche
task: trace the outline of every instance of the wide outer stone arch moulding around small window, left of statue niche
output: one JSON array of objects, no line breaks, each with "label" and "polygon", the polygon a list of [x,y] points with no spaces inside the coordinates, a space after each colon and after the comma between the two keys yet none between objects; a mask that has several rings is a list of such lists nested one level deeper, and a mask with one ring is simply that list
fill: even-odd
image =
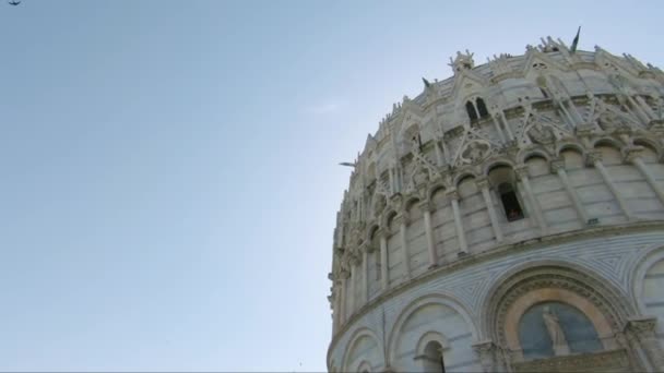
[{"label": "wide outer stone arch moulding around small window, left of statue niche", "polygon": [[[471,313],[467,311],[467,309],[465,308],[465,305],[463,305],[463,303],[461,301],[456,300],[454,297],[449,296],[449,294],[443,294],[443,293],[428,294],[428,296],[419,297],[419,298],[413,300],[408,305],[406,305],[400,312],[399,316],[396,317],[396,322],[393,324],[392,329],[390,330],[390,337],[388,338],[387,353],[388,353],[389,362],[392,362],[394,360],[396,340],[398,340],[399,334],[401,333],[403,325],[411,318],[411,316],[413,314],[415,314],[415,312],[417,312],[419,309],[422,309],[426,305],[430,305],[430,304],[444,305],[444,306],[449,306],[450,309],[454,310],[463,318],[463,321],[467,324],[469,328],[471,329],[471,333],[473,335],[473,341],[477,340],[477,327],[476,327],[473,318],[471,317]],[[446,347],[449,345],[441,344],[441,346]]]}]

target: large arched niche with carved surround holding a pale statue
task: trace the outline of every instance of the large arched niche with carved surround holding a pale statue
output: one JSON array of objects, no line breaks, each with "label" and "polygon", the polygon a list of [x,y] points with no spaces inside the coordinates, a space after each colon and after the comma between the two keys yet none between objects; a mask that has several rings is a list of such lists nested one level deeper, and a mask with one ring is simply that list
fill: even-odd
[{"label": "large arched niche with carved surround holding a pale statue", "polygon": [[[639,366],[616,338],[633,314],[632,304],[621,290],[589,268],[550,261],[524,264],[498,279],[488,293],[493,296],[485,303],[483,325],[487,336],[507,352],[512,370],[571,369],[568,365],[574,361],[604,358],[610,360],[607,369]],[[557,320],[547,326],[548,315]],[[550,346],[546,341],[533,345],[533,336],[543,333]],[[544,350],[533,352],[533,346],[544,346]]]}]

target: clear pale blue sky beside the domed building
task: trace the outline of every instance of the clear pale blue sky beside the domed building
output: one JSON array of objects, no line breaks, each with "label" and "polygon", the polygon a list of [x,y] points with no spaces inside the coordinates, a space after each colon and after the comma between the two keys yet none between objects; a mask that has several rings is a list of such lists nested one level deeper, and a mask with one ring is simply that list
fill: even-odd
[{"label": "clear pale blue sky beside the domed building", "polygon": [[460,49],[664,67],[626,4],[2,1],[0,370],[324,370],[337,163]]}]

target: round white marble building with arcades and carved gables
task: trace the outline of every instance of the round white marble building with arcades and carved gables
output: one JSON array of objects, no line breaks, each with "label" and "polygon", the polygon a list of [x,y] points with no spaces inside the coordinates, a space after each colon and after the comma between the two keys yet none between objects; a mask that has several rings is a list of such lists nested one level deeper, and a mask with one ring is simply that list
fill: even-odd
[{"label": "round white marble building with arcades and carved gables", "polygon": [[353,165],[329,371],[664,370],[664,72],[550,37],[450,65]]}]

